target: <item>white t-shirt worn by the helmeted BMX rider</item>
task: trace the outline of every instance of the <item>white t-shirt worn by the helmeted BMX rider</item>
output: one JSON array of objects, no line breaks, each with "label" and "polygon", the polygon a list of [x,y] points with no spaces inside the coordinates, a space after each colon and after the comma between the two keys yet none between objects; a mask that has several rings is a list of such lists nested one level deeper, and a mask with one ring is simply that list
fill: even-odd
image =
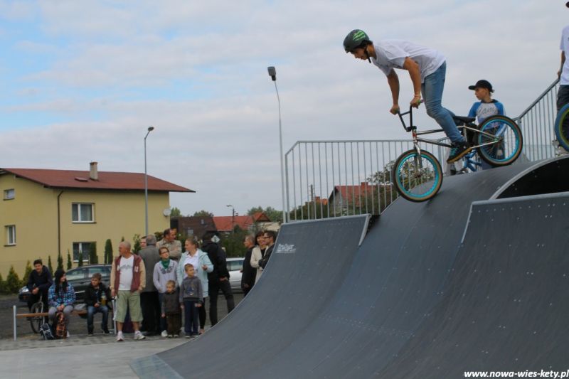
[{"label": "white t-shirt worn by the helmeted BMX rider", "polygon": [[403,40],[383,40],[374,44],[377,58],[370,57],[371,63],[378,66],[385,76],[394,68],[403,68],[405,58],[409,57],[419,65],[421,82],[445,63],[445,56],[432,48]]}]

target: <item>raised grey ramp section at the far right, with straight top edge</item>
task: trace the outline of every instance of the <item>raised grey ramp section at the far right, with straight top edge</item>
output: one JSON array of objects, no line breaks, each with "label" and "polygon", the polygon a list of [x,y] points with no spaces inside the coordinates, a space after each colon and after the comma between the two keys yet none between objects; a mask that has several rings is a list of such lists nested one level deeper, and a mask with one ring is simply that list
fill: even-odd
[{"label": "raised grey ramp section at the far right, with straight top edge", "polygon": [[569,192],[474,203],[440,303],[379,377],[567,370],[568,247]]}]

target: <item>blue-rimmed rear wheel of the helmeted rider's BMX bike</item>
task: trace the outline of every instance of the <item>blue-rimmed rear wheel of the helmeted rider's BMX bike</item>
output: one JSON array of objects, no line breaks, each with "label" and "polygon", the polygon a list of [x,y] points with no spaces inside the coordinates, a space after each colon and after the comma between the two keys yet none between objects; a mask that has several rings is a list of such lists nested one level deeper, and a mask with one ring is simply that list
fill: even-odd
[{"label": "blue-rimmed rear wheel of the helmeted rider's BMX bike", "polygon": [[492,116],[479,125],[478,148],[480,158],[492,166],[507,166],[514,163],[521,154],[523,137],[521,129],[513,119],[506,116]]}]

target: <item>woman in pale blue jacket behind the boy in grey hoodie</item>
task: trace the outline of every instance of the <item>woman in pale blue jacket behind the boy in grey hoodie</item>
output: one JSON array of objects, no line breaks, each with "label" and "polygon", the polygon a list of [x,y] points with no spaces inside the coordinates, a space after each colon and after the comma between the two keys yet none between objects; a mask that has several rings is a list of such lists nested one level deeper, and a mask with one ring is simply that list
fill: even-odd
[{"label": "woman in pale blue jacket behind the boy in grey hoodie", "polygon": [[184,277],[186,277],[186,271],[184,266],[190,263],[194,269],[196,269],[196,277],[200,279],[201,287],[203,289],[203,299],[201,300],[201,306],[198,308],[198,314],[200,318],[200,334],[203,334],[204,327],[206,326],[206,297],[208,297],[208,272],[213,271],[213,265],[211,260],[209,260],[208,255],[201,251],[198,247],[198,242],[192,238],[186,240],[186,252],[181,255],[180,263],[178,265],[177,279],[178,285],[181,286]]}]

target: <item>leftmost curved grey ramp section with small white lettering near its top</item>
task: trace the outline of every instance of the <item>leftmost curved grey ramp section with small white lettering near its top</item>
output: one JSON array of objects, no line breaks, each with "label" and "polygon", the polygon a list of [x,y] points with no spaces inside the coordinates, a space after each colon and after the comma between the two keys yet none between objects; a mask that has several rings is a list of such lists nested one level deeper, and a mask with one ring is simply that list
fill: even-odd
[{"label": "leftmost curved grey ramp section with small white lettering near its top", "polygon": [[336,296],[367,225],[368,215],[282,225],[267,269],[233,312],[196,340],[132,368],[141,378],[255,376]]}]

